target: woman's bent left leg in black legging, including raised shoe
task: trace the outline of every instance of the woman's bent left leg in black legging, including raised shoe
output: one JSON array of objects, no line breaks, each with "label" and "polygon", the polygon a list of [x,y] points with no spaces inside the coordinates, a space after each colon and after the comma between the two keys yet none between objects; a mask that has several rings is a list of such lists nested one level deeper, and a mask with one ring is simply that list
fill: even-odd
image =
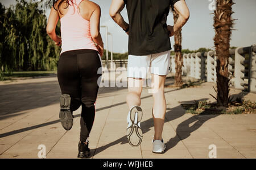
[{"label": "woman's bent left leg in black legging, including raised shoe", "polygon": [[70,130],[73,126],[72,113],[81,105],[80,76],[75,53],[61,54],[57,77],[61,89],[60,121],[65,130]]}]

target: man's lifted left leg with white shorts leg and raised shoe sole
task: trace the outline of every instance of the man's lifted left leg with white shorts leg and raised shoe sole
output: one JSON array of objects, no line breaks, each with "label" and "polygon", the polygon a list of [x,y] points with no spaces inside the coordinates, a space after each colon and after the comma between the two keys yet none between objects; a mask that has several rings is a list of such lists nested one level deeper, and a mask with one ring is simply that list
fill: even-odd
[{"label": "man's lifted left leg with white shorts leg and raised shoe sole", "polygon": [[128,56],[126,102],[129,107],[127,115],[127,139],[131,146],[139,146],[143,134],[141,129],[142,109],[141,93],[143,80],[147,78],[147,68],[150,66],[150,56]]}]

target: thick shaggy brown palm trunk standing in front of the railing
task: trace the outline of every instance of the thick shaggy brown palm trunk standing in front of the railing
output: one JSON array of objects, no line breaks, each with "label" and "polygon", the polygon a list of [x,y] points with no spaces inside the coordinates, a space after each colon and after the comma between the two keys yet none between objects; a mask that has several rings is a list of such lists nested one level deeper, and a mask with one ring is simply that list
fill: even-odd
[{"label": "thick shaggy brown palm trunk standing in front of the railing", "polygon": [[228,106],[229,102],[229,42],[232,34],[233,20],[231,15],[232,0],[216,0],[214,24],[216,35],[214,45],[217,57],[217,103],[219,106]]}]

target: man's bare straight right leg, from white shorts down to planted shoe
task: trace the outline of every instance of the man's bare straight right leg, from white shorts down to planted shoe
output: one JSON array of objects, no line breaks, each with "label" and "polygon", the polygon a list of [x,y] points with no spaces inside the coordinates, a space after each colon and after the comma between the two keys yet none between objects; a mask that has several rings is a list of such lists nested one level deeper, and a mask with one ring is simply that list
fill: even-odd
[{"label": "man's bare straight right leg, from white shorts down to planted shoe", "polygon": [[164,81],[166,76],[159,76],[151,74],[152,88],[154,88],[152,96],[154,99],[153,104],[153,118],[154,118],[154,140],[162,140],[162,132],[164,126],[164,117],[166,114],[166,98],[164,97]]}]

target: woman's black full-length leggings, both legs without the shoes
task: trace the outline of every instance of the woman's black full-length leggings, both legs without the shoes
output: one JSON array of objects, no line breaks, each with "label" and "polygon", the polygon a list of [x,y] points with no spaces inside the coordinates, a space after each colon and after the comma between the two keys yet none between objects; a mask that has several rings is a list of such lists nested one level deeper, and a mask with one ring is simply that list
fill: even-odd
[{"label": "woman's black full-length leggings, both legs without the shoes", "polygon": [[97,51],[77,49],[61,53],[57,68],[61,94],[71,96],[71,111],[82,105],[80,141],[85,141],[92,130],[100,76],[101,60]]}]

